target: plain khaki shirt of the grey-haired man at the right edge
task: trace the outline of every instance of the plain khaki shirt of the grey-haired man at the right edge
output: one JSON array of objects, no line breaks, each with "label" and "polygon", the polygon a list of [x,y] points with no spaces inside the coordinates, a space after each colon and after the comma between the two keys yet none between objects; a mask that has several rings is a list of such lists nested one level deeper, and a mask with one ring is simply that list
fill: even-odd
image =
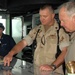
[{"label": "plain khaki shirt of the grey-haired man at the right edge", "polygon": [[75,61],[75,32],[70,37],[70,45],[65,57],[65,62],[68,63],[69,61]]}]

